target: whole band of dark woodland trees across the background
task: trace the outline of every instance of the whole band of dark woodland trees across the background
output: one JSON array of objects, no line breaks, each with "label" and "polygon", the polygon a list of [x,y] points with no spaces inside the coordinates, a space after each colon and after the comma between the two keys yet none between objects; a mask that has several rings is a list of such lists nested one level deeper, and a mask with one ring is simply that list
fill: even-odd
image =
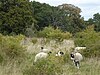
[{"label": "whole band of dark woodland trees across the background", "polygon": [[[81,9],[71,4],[50,6],[29,0],[0,0],[0,33],[4,35],[34,35],[44,27],[52,26],[72,34],[94,25],[100,31],[100,14],[84,20]],[[29,33],[30,32],[30,33]]]}]

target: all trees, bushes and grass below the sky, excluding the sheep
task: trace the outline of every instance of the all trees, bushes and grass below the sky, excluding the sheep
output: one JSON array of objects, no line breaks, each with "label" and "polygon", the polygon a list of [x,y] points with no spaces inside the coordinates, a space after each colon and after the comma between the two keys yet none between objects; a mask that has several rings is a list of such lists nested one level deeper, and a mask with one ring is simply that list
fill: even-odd
[{"label": "all trees, bushes and grass below the sky, excluding the sheep", "polygon": [[[99,75],[100,14],[85,21],[80,12],[71,4],[1,0],[0,75]],[[34,63],[41,46],[52,54]],[[86,47],[80,69],[70,60],[76,46]],[[55,56],[59,50],[62,57]]]}]

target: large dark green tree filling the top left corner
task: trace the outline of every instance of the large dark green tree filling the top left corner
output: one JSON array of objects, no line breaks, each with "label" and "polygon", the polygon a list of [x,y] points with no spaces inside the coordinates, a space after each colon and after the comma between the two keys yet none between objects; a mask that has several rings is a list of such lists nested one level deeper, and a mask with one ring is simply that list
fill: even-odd
[{"label": "large dark green tree filling the top left corner", "polygon": [[0,33],[25,34],[34,21],[31,9],[29,0],[0,0]]}]

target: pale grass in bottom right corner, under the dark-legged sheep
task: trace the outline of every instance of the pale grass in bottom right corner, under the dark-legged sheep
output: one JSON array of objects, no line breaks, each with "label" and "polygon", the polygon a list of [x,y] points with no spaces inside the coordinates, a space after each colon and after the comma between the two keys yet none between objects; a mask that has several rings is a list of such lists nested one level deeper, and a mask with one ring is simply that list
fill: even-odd
[{"label": "pale grass in bottom right corner, under the dark-legged sheep", "polygon": [[[78,70],[73,64],[66,64],[64,66],[65,75],[99,75],[100,74],[100,60],[98,58],[86,58],[81,62],[81,67]],[[66,69],[67,68],[67,69]]]}]

